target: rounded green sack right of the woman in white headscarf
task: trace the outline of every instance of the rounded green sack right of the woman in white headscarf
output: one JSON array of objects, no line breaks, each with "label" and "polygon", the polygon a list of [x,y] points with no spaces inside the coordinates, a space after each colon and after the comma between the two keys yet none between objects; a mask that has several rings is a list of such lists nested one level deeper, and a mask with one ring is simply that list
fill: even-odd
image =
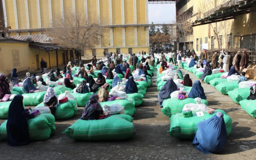
[{"label": "rounded green sack right of the woman in white headscarf", "polygon": [[[40,103],[36,107],[44,106],[44,103]],[[60,103],[55,112],[55,119],[69,119],[77,114],[76,101],[68,100],[65,103]]]}]

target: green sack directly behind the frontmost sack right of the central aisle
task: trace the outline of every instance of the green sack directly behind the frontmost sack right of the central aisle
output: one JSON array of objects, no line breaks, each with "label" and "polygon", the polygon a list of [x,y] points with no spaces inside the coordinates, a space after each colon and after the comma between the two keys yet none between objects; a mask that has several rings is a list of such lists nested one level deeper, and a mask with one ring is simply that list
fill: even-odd
[{"label": "green sack directly behind the frontmost sack right of the central aisle", "polygon": [[[178,98],[169,98],[163,101],[163,109],[161,110],[165,116],[171,117],[176,113],[181,113],[185,104],[194,103],[196,101],[194,98],[186,98],[184,100],[179,100]],[[202,99],[202,103],[208,105],[207,100]]]}]

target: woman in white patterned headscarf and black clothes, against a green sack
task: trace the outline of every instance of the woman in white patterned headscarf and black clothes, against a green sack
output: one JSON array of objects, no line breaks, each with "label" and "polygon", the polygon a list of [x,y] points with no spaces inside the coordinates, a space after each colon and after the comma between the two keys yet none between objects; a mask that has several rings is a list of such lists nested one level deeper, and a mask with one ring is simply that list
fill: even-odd
[{"label": "woman in white patterned headscarf and black clothes, against a green sack", "polygon": [[52,87],[49,87],[44,94],[44,106],[48,107],[51,110],[52,115],[54,116],[56,108],[58,106],[58,97]]}]

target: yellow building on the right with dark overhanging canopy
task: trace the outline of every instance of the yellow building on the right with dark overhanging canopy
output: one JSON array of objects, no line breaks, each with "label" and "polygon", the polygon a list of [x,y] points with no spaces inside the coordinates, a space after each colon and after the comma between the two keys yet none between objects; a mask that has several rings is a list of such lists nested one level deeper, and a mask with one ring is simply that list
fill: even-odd
[{"label": "yellow building on the right with dark overhanging canopy", "polygon": [[[247,13],[247,11],[250,12],[248,2],[238,0],[176,1],[176,16],[190,11],[188,19],[193,22],[193,35],[185,38],[185,48],[187,50],[194,48],[197,53],[202,49],[248,48],[255,50],[256,21],[254,18],[256,13]],[[178,48],[183,48],[183,42],[184,39],[180,39]],[[189,46],[189,44],[192,45]]]}]

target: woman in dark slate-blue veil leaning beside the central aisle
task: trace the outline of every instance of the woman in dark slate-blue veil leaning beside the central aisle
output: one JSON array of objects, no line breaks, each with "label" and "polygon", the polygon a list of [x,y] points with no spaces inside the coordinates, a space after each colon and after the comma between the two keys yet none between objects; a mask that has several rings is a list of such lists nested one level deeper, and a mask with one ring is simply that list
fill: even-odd
[{"label": "woman in dark slate-blue veil leaning beside the central aisle", "polygon": [[162,107],[163,101],[171,98],[171,93],[177,91],[178,87],[173,82],[172,79],[168,79],[164,86],[161,88],[160,92],[157,94],[159,108]]}]

